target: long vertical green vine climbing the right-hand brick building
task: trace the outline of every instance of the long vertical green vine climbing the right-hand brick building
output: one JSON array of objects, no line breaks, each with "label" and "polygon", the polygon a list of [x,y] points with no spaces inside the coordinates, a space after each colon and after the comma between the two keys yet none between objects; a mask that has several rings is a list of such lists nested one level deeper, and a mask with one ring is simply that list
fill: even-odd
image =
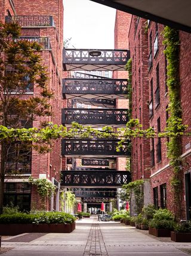
[{"label": "long vertical green vine climbing the right-hand brick building", "polygon": [[170,104],[168,111],[170,112],[170,118],[167,122],[167,131],[174,132],[174,136],[170,138],[167,143],[167,155],[170,159],[170,164],[174,169],[174,176],[171,180],[172,188],[175,192],[175,200],[180,201],[180,170],[182,165],[181,156],[181,133],[183,134],[187,128],[187,125],[182,124],[182,109],[180,98],[180,79],[179,79],[179,34],[176,29],[172,29],[165,26],[164,29],[164,45],[165,56],[167,56],[167,86],[168,94],[170,98]]}]

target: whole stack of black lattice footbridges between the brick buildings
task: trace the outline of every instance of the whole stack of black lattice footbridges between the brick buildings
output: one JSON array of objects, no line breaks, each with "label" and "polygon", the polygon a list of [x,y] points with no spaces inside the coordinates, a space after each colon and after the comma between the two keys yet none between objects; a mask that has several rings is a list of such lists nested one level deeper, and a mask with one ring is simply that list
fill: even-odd
[{"label": "whole stack of black lattice footbridges between the brick buildings", "polygon": [[[122,71],[130,58],[128,50],[64,49],[63,68],[72,76],[63,79],[63,98],[72,101],[62,110],[62,124],[71,127],[72,122],[91,125],[94,128],[110,125],[124,127],[128,122],[128,109],[116,109],[116,99],[127,98],[127,79],[110,79],[88,71]],[[75,72],[74,72],[75,71]],[[81,71],[81,72],[79,72]],[[86,108],[78,108],[78,103]],[[68,104],[69,106],[69,104]],[[100,108],[101,107],[101,108]],[[86,203],[109,201],[116,197],[116,188],[130,182],[130,172],[110,167],[117,157],[128,157],[130,141],[116,150],[118,139],[66,139],[62,140],[62,155],[72,170],[63,170],[61,186],[72,188],[76,197]],[[81,158],[78,167],[74,159]]]}]

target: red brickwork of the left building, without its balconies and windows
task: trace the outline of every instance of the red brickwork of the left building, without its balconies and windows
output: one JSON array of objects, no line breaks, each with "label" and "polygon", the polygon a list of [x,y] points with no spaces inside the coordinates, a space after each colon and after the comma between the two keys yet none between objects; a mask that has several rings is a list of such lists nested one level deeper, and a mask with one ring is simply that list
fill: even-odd
[{"label": "red brickwork of the left building, without its balconies and windows", "polygon": [[[14,8],[13,8],[14,7]],[[29,0],[3,0],[0,7],[1,20],[4,22],[5,16],[53,16],[53,26],[27,26],[21,29],[21,35],[24,37],[48,37],[50,39],[51,49],[45,49],[41,52],[42,62],[47,67],[49,74],[48,89],[54,92],[51,99],[53,116],[47,118],[36,118],[33,121],[33,127],[39,127],[42,121],[50,121],[53,124],[61,124],[61,80],[62,74],[62,50],[63,50],[63,4],[61,0],[49,1],[29,1]],[[39,89],[34,88],[33,94],[27,97],[39,95]],[[60,140],[54,141],[50,153],[39,154],[32,151],[32,170],[33,178],[46,177],[52,182],[53,178],[60,180],[61,170],[61,144]],[[27,178],[24,176],[24,178]],[[16,182],[16,180],[9,180]],[[23,182],[23,178],[17,182]],[[52,210],[58,209],[56,200],[51,205],[50,199],[42,202],[35,188],[32,186],[31,207],[36,209]],[[38,202],[35,204],[35,202]],[[58,202],[57,202],[58,204]],[[44,206],[45,205],[45,206]]]}]

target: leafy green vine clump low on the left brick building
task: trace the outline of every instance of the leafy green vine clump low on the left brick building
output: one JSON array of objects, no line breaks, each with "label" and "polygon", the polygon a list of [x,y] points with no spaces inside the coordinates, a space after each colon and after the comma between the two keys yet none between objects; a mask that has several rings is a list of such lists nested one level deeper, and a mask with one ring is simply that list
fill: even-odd
[{"label": "leafy green vine clump low on the left brick building", "polygon": [[29,182],[36,186],[38,194],[43,198],[51,197],[56,191],[56,186],[47,179],[33,179],[33,177],[30,176]]}]

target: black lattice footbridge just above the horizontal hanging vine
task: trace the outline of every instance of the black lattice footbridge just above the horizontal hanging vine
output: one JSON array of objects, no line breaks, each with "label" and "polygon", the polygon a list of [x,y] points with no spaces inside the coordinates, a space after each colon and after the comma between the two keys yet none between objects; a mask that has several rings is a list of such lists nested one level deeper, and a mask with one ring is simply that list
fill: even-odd
[{"label": "black lattice footbridge just above the horizontal hanging vine", "polygon": [[128,109],[62,109],[62,124],[126,125]]}]

